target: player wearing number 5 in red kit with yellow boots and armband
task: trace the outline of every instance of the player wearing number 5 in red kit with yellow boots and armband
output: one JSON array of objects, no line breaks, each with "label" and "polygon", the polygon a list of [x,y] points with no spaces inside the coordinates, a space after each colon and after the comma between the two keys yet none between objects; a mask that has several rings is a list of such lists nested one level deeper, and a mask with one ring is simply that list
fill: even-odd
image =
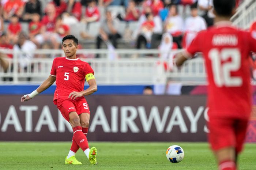
[{"label": "player wearing number 5 in red kit with yellow boots and armband", "polygon": [[[56,81],[53,102],[57,105],[63,117],[73,128],[72,146],[65,164],[82,164],[75,158],[79,147],[84,151],[92,165],[96,164],[97,149],[89,149],[86,138],[90,110],[84,95],[90,95],[97,91],[94,71],[90,65],[76,57],[78,39],[74,35],[67,35],[62,39],[63,50],[66,57],[56,57],[53,60],[50,76],[36,90],[21,98],[21,102],[28,101],[35,95],[46,90]],[[89,88],[84,90],[84,82]]]}]

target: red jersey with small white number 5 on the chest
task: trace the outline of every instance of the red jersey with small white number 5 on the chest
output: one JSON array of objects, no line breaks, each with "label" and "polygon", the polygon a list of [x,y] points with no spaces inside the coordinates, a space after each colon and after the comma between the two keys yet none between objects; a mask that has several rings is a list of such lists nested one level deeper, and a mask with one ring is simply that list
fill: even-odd
[{"label": "red jersey with small white number 5 on the chest", "polygon": [[72,91],[83,91],[85,76],[89,73],[94,74],[93,69],[88,63],[79,58],[54,58],[50,72],[51,76],[56,76],[54,100],[58,98],[68,98]]}]

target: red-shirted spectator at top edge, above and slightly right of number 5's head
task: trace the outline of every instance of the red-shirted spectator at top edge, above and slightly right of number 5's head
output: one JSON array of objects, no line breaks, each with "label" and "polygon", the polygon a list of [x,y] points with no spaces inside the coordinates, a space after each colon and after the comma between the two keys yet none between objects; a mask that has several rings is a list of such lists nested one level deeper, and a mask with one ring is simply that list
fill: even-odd
[{"label": "red-shirted spectator at top edge, above and slightly right of number 5's head", "polygon": [[89,0],[88,6],[85,10],[85,17],[81,19],[82,22],[90,23],[99,21],[100,14],[95,0]]}]

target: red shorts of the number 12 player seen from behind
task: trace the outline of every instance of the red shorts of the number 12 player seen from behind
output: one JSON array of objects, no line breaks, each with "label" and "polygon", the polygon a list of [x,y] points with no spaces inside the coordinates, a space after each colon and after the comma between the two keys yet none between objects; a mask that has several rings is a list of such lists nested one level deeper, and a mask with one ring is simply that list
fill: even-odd
[{"label": "red shorts of the number 12 player seen from behind", "polygon": [[248,121],[247,119],[210,117],[208,138],[212,150],[234,147],[237,153],[242,151]]}]

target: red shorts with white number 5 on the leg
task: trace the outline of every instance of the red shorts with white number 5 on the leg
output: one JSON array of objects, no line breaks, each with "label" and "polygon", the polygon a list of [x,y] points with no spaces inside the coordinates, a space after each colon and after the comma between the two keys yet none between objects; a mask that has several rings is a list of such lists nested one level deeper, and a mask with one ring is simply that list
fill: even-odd
[{"label": "red shorts with white number 5 on the leg", "polygon": [[85,98],[71,100],[69,98],[59,98],[54,100],[62,116],[69,122],[69,113],[76,112],[78,115],[81,113],[89,113],[89,106]]}]

